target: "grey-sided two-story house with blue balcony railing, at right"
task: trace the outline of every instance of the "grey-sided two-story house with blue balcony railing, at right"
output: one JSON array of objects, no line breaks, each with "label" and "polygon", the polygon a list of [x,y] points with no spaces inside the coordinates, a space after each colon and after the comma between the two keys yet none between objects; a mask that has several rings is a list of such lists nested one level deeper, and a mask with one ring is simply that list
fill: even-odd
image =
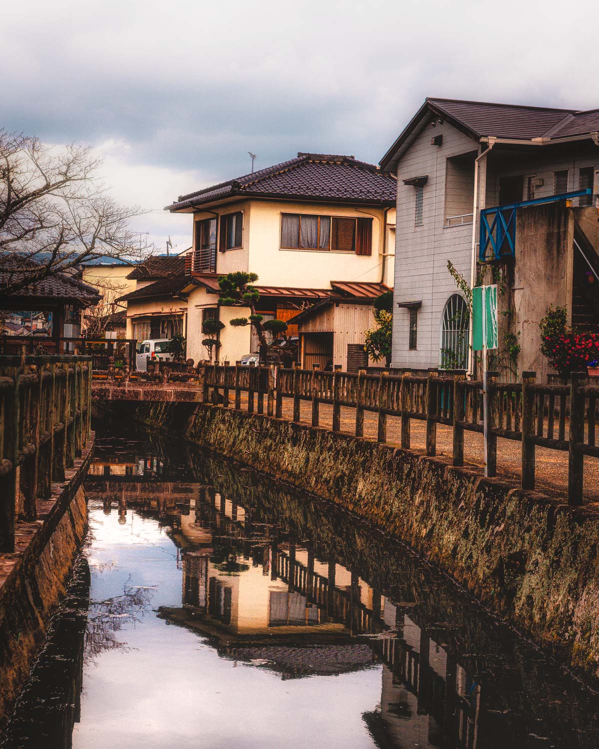
[{"label": "grey-sided two-story house with blue balcony railing, at right", "polygon": [[599,323],[599,110],[427,99],[381,160],[398,178],[394,366],[461,368],[469,285],[498,282],[500,348],[547,375],[538,324],[551,303]]}]

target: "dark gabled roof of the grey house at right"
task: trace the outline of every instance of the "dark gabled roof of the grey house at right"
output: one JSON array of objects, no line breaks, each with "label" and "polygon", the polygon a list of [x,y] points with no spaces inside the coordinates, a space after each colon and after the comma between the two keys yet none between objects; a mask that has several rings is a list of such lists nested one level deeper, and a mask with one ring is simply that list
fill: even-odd
[{"label": "dark gabled roof of the grey house at right", "polygon": [[425,115],[433,112],[446,118],[473,139],[486,137],[553,142],[569,136],[599,131],[599,110],[580,111],[558,107],[496,104],[429,97],[380,161],[385,169],[398,150],[410,138]]}]

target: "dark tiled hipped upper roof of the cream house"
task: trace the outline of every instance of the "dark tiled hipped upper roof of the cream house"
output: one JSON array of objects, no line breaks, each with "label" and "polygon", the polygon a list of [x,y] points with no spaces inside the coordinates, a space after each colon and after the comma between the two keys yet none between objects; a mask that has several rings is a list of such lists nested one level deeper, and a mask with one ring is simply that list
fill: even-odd
[{"label": "dark tiled hipped upper roof of the cream house", "polygon": [[181,210],[234,195],[393,205],[396,189],[392,175],[353,156],[300,153],[251,175],[180,195],[168,209]]}]

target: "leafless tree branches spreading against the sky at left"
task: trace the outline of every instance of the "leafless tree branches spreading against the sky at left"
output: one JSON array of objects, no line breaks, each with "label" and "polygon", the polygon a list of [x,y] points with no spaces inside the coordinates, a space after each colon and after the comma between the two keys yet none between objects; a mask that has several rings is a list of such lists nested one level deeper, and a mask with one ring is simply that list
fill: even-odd
[{"label": "leafless tree branches spreading against the sky at left", "polygon": [[141,259],[150,249],[131,231],[145,213],[121,206],[100,182],[91,147],[53,148],[0,130],[0,289],[15,294],[86,261]]}]

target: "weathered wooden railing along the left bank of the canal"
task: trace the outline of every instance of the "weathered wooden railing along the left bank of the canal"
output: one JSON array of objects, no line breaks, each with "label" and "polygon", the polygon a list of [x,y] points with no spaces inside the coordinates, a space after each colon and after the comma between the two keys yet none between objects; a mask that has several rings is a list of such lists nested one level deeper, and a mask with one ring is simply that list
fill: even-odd
[{"label": "weathered wooden railing along the left bank of the canal", "polygon": [[0,552],[81,455],[90,403],[91,357],[0,357]]}]

